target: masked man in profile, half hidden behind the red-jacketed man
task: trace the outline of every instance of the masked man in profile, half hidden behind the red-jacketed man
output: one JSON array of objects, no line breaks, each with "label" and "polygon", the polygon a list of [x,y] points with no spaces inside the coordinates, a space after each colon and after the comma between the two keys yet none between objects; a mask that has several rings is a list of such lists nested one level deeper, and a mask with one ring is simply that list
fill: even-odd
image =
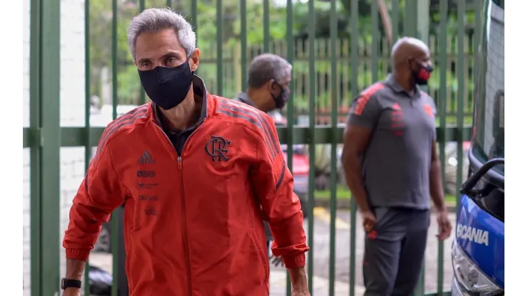
[{"label": "masked man in profile, half hidden behind the red-jacketed man", "polygon": [[[263,112],[280,110],[288,102],[290,95],[292,65],[288,60],[274,55],[273,53],[263,53],[256,56],[251,61],[248,70],[248,89],[238,93],[233,99],[243,102]],[[280,117],[280,115],[275,115]],[[280,124],[280,122],[275,122]],[[264,222],[268,249],[273,242],[273,236],[268,223]],[[273,258],[268,254],[275,266],[282,264],[281,258]]]}]

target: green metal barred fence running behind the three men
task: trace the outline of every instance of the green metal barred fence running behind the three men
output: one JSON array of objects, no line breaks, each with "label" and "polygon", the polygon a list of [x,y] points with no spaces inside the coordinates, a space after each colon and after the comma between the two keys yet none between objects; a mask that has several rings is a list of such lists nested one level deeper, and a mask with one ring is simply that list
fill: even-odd
[{"label": "green metal barred fence running behind the three men", "polygon": [[[60,126],[60,90],[61,90],[61,0],[31,0],[31,43],[30,43],[30,124],[24,127],[24,148],[30,150],[31,168],[29,171],[30,186],[30,207],[31,207],[31,295],[54,295],[59,291],[60,270],[60,239],[62,233],[59,233],[59,216],[60,210],[60,186],[61,179],[60,169],[60,149],[61,147],[84,147],[84,165],[88,166],[91,159],[93,147],[98,143],[99,137],[103,132],[103,127],[91,127],[91,95],[93,95],[93,67],[90,65],[90,43],[91,28],[93,24],[89,23],[91,8],[94,0],[85,0],[85,126],[84,127],[61,127]],[[152,2],[152,3],[151,3]],[[200,5],[213,4],[214,1],[183,1],[172,3],[173,1],[146,1],[138,0],[133,4],[137,6],[138,11],[151,6],[171,6],[183,10],[188,14],[188,18],[196,28],[198,36],[200,31],[200,16],[198,11]],[[160,3],[161,2],[161,3]],[[203,3],[200,3],[203,2]],[[264,52],[270,52],[275,49],[281,53],[293,64],[293,97],[288,101],[287,106],[287,127],[278,128],[280,141],[288,144],[288,166],[293,162],[293,144],[308,144],[309,154],[315,155],[316,144],[328,144],[331,147],[331,174],[330,174],[330,226],[328,228],[330,236],[330,260],[329,260],[329,287],[328,295],[337,295],[335,293],[335,248],[336,248],[336,215],[337,215],[337,145],[342,142],[342,125],[339,125],[340,113],[346,112],[346,107],[350,105],[352,97],[360,93],[369,83],[380,80],[385,77],[388,71],[387,63],[387,32],[380,31],[382,20],[380,20],[380,9],[378,1],[330,1],[329,27],[330,36],[323,41],[325,43],[325,55],[323,60],[318,54],[318,44],[322,41],[318,36],[317,28],[320,23],[316,23],[315,13],[316,6],[322,1],[309,0],[303,5],[306,6],[306,17],[308,21],[303,41],[298,41],[294,36],[294,6],[303,2],[295,3],[288,0],[285,3],[283,18],[280,21],[285,23],[286,33],[285,41],[272,40],[270,36],[270,9],[273,9],[269,0],[263,0],[262,3],[256,3],[251,0],[240,0],[235,6],[238,12],[235,18],[240,26],[238,40],[235,48],[238,53],[230,56],[229,62],[225,61],[225,48],[233,48],[233,44],[225,43],[223,39],[223,27],[225,26],[225,5],[233,5],[233,1],[216,0],[215,11],[215,40],[210,40],[214,46],[204,45],[211,51],[202,51],[203,60],[213,60],[214,67],[202,67],[198,70],[198,75],[205,78],[205,83],[211,81],[213,93],[218,95],[233,95],[234,90],[245,88],[246,74],[245,71],[254,55],[248,46],[248,19],[246,8],[249,5],[262,6],[263,20],[263,46]],[[430,7],[429,1],[425,0],[386,0],[385,4],[390,9],[392,21],[392,42],[397,36],[418,36],[425,35],[425,41],[429,42],[434,51],[434,61],[436,64],[435,78],[437,85],[431,85],[432,95],[437,100],[439,110],[439,122],[437,127],[437,138],[440,147],[440,158],[442,168],[445,167],[445,143],[457,142],[458,159],[462,159],[462,142],[469,139],[471,132],[471,120],[467,119],[468,114],[472,112],[472,103],[468,97],[472,96],[472,56],[476,53],[473,48],[478,44],[480,28],[474,26],[469,28],[467,13],[468,11],[479,11],[481,1],[458,0],[457,6],[450,7],[450,1],[440,0],[440,6]],[[120,100],[118,97],[119,79],[119,62],[118,56],[118,39],[126,34],[125,31],[118,28],[118,17],[120,7],[128,5],[130,7],[133,1],[111,1],[111,102],[113,105],[113,118],[118,115],[117,106]],[[338,26],[338,6],[343,3],[347,4],[347,31],[343,33]],[[370,4],[370,28],[372,36],[370,41],[365,43],[357,36],[360,36],[360,7],[365,3]],[[466,5],[468,4],[468,5]],[[424,7],[425,5],[425,7]],[[403,8],[403,11],[400,11]],[[425,9],[425,10],[424,10]],[[438,16],[435,29],[427,27],[425,34],[420,33],[423,18],[427,18],[427,10],[436,9]],[[424,14],[424,11],[426,13]],[[230,15],[233,11],[228,11]],[[403,13],[403,19],[400,14]],[[473,14],[473,23],[479,24],[479,13]],[[450,19],[457,20],[455,26],[455,35],[448,32],[448,23]],[[274,20],[277,21],[277,20]],[[233,21],[234,22],[234,21]],[[400,24],[403,24],[400,30]],[[229,24],[229,23],[228,23]],[[363,30],[364,31],[364,30]],[[468,37],[470,32],[470,37]],[[345,35],[345,37],[343,36]],[[345,40],[345,41],[344,41]],[[300,46],[295,44],[300,43]],[[344,43],[346,43],[344,45]],[[281,46],[276,46],[281,44]],[[382,46],[385,44],[385,46]],[[275,46],[273,46],[275,45]],[[198,44],[200,47],[200,44]],[[471,48],[471,49],[469,49]],[[362,54],[363,51],[369,51],[368,56]],[[362,51],[362,52],[360,52]],[[82,54],[82,53],[78,53]],[[212,58],[211,58],[212,57]],[[346,58],[343,58],[346,57]],[[230,70],[228,70],[230,68]],[[323,69],[325,87],[318,86],[320,83],[321,69]],[[361,80],[360,77],[368,73],[367,80]],[[455,76],[455,80],[450,77]],[[435,80],[435,81],[436,81]],[[137,83],[138,79],[136,78]],[[456,85],[455,85],[456,84]],[[139,84],[136,84],[138,94],[137,102],[145,102],[146,96],[141,91]],[[343,86],[345,85],[345,86]],[[324,92],[322,91],[324,90]],[[324,93],[324,94],[323,94]],[[321,104],[321,97],[325,98],[325,103]],[[66,98],[62,98],[66,100]],[[136,102],[136,99],[134,99]],[[321,107],[323,106],[323,107]],[[324,110],[322,110],[322,108]],[[309,117],[308,125],[296,125],[295,115],[301,111],[307,112]],[[329,120],[320,120],[317,115],[330,115]],[[325,125],[318,123],[325,122]],[[469,125],[468,125],[469,124]],[[314,184],[315,184],[315,157],[310,157],[310,174],[309,174],[309,204],[313,209],[315,205]],[[457,187],[462,183],[462,162],[457,164]],[[80,184],[79,180],[79,184]],[[73,197],[73,196],[72,196]],[[460,196],[457,196],[457,201]],[[359,264],[355,260],[356,233],[355,221],[356,211],[353,199],[350,199],[350,295],[354,295],[355,282],[357,274],[355,266]],[[314,243],[314,214],[308,212],[308,245]],[[113,239],[113,251],[116,251],[116,239]],[[444,287],[444,243],[437,243],[438,260],[437,260],[437,290],[425,291],[424,275],[420,280],[416,290],[416,295],[448,295],[449,292],[443,290]],[[314,256],[316,251],[308,253],[308,277],[310,290],[313,290]],[[114,263],[116,263],[116,257]],[[114,271],[117,265],[113,265]],[[86,270],[86,274],[88,270]],[[288,277],[287,277],[288,278]],[[113,295],[116,295],[117,279],[114,278]],[[87,282],[85,280],[85,282]],[[86,285],[87,286],[87,285]],[[285,293],[289,295],[289,287]],[[89,291],[86,290],[86,293]],[[314,294],[313,294],[314,295]]]}]

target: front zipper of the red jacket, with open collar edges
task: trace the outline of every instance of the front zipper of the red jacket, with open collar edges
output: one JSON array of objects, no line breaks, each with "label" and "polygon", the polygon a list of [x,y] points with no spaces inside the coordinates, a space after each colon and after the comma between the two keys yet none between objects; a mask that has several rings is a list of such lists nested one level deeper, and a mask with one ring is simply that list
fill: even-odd
[{"label": "front zipper of the red jacket, with open collar edges", "polygon": [[[199,125],[196,126],[196,128],[193,130],[193,132],[191,132],[191,134],[189,134],[189,137],[186,139],[186,142],[183,143],[183,147],[181,148],[181,154],[183,154],[183,150],[185,149],[188,140],[191,139],[193,134],[203,125],[203,122],[205,122],[205,119]],[[178,151],[176,151],[176,147],[174,147],[173,143],[171,142],[171,139],[169,139],[167,134],[165,132],[163,132],[163,129],[161,129],[161,127],[159,127],[158,125],[156,125],[156,127],[158,127],[158,129],[163,133],[165,138],[168,140],[169,144],[171,144],[171,147],[173,147],[173,150],[176,153],[176,156],[178,157],[178,171],[180,173],[180,194],[181,194],[181,207],[182,207],[182,215],[181,215],[181,217],[182,217],[181,220],[182,221],[181,221],[181,224],[182,224],[182,228],[183,228],[183,248],[184,248],[185,253],[186,253],[186,271],[187,271],[187,286],[188,286],[187,295],[191,296],[193,294],[193,292],[192,292],[193,291],[193,289],[192,289],[193,286],[192,286],[192,282],[191,282],[191,258],[190,258],[191,255],[190,255],[190,252],[189,252],[189,243],[188,243],[188,239],[187,239],[187,215],[186,215],[185,191],[183,190],[183,164],[182,164],[182,159],[181,159],[181,156],[178,155]]]}]

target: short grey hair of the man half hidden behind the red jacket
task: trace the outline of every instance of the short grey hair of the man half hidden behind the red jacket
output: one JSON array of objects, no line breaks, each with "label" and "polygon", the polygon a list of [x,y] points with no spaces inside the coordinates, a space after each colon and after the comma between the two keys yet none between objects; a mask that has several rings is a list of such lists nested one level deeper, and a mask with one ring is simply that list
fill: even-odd
[{"label": "short grey hair of the man half hidden behind the red jacket", "polygon": [[251,61],[248,70],[248,87],[260,88],[270,80],[281,81],[292,70],[288,60],[274,55],[263,53]]}]

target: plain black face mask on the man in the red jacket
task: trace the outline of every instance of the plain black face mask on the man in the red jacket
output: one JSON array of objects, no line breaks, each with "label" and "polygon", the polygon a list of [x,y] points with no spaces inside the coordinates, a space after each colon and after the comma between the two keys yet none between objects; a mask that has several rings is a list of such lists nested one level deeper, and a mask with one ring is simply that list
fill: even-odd
[{"label": "plain black face mask on the man in the red jacket", "polygon": [[158,66],[152,70],[138,70],[138,73],[145,93],[164,110],[183,102],[193,82],[188,60],[173,68]]}]

